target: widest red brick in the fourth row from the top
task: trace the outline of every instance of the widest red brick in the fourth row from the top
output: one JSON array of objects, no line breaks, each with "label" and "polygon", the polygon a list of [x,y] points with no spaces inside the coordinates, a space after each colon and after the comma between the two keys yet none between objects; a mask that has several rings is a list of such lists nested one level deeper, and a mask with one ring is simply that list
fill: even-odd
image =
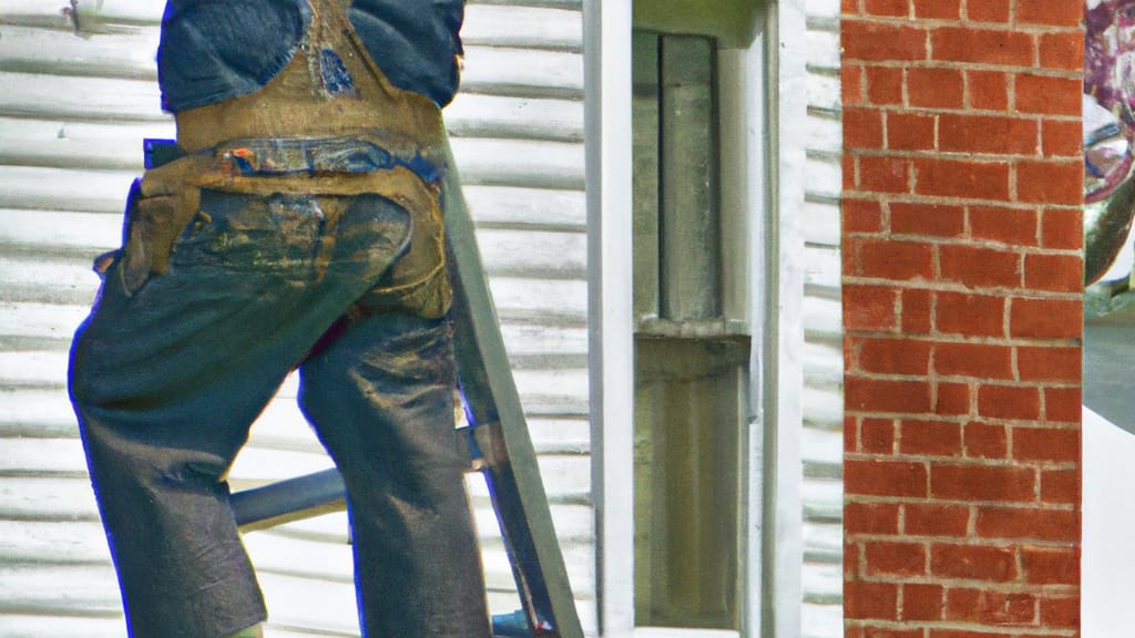
[{"label": "widest red brick in the fourth row from the top", "polygon": [[959,153],[1035,156],[1040,152],[1040,124],[1010,116],[942,114],[939,149]]}]

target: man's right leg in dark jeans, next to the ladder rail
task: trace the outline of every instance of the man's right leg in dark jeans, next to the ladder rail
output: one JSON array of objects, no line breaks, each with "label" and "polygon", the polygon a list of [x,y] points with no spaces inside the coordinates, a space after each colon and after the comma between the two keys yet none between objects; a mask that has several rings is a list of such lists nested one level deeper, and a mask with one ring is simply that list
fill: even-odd
[{"label": "man's right leg in dark jeans, next to the ladder rail", "polygon": [[363,636],[489,636],[446,321],[346,322],[301,375],[301,406],[347,486]]}]

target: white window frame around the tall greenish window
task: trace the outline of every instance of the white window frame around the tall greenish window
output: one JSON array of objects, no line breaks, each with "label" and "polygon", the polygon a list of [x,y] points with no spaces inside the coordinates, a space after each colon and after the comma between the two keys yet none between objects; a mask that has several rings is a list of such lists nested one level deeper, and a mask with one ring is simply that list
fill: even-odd
[{"label": "white window frame around the tall greenish window", "polygon": [[[804,0],[771,1],[753,45],[721,57],[739,83],[743,140],[726,205],[748,209],[754,341],[742,521],[743,630],[634,627],[631,2],[583,0],[589,367],[597,612],[608,638],[797,638],[802,563],[800,426],[804,344],[806,24]],[[775,78],[765,83],[764,78]],[[728,104],[724,108],[730,108]],[[732,119],[732,118],[731,118]],[[775,158],[767,162],[765,158]],[[746,178],[747,177],[747,178]],[[775,211],[767,215],[764,211]],[[762,293],[764,291],[764,293]],[[771,451],[771,453],[770,453]],[[766,549],[768,548],[768,549]],[[774,551],[772,551],[774,549]]]}]

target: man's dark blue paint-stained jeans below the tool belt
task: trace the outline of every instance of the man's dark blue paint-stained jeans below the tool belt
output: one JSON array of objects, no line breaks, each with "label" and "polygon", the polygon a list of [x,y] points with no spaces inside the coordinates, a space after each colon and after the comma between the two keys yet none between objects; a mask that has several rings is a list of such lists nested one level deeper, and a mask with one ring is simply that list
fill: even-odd
[{"label": "man's dark blue paint-stained jeans below the tool belt", "polygon": [[76,335],[72,400],[134,638],[264,619],[225,476],[297,366],[347,486],[364,636],[488,636],[448,325],[355,303],[413,221],[378,195],[333,200],[203,192],[168,269],[116,259]]}]

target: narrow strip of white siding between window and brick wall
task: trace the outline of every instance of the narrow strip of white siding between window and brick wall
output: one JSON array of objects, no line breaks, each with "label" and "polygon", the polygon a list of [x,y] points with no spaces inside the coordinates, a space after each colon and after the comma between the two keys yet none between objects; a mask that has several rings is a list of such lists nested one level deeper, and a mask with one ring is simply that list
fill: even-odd
[{"label": "narrow strip of white siding between window and brick wall", "polygon": [[804,638],[843,636],[839,0],[806,0]]}]

